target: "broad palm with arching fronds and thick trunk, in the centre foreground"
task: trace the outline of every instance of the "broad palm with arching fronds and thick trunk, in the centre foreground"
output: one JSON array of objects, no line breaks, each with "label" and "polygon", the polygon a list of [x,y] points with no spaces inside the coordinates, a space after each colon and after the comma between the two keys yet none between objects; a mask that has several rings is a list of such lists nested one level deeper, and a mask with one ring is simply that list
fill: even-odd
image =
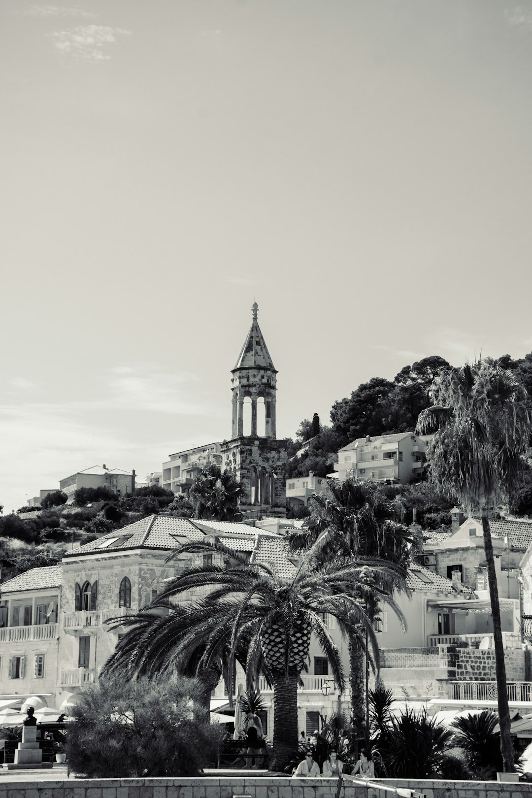
[{"label": "broad palm with arching fronds and thick trunk, in the centre foreground", "polygon": [[[248,562],[244,555],[222,543],[203,541],[184,544],[171,558],[206,551],[221,555],[227,566],[213,563],[188,569],[168,584],[154,604],[174,603],[190,598],[195,591],[208,591],[205,598],[191,606],[191,612],[199,608],[202,615],[198,617],[199,634],[203,634],[205,642],[201,662],[208,666],[218,655],[220,643],[230,639],[230,654],[240,646],[247,648],[248,690],[254,688],[261,671],[267,674],[274,690],[271,767],[280,770],[298,747],[298,681],[309,656],[311,634],[315,634],[329,659],[333,678],[343,690],[345,676],[341,656],[325,625],[324,614],[337,618],[343,633],[367,632],[376,650],[371,621],[364,602],[353,595],[353,584],[385,595],[384,588],[376,585],[373,579],[376,569],[382,571],[383,584],[396,579],[396,571],[400,569],[358,556],[349,561],[329,560],[317,567],[315,552],[311,549],[300,562],[290,566],[290,575],[281,576],[274,563],[270,567],[265,563]],[[210,627],[211,634],[207,634],[205,623],[210,613],[215,614],[215,622]],[[171,646],[172,638],[167,638],[166,644]],[[164,644],[160,647],[162,649]]]}]

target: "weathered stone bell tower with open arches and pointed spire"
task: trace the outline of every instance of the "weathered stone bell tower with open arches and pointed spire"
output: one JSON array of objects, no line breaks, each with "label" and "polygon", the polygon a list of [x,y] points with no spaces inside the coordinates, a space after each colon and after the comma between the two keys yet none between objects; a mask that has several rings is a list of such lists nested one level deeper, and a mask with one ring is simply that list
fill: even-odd
[{"label": "weathered stone bell tower with open arches and pointed spire", "polygon": [[[222,445],[223,468],[242,484],[242,513],[286,515],[286,441],[277,440],[277,369],[258,326],[258,305],[231,374],[231,440]],[[245,516],[244,516],[245,517]]]}]

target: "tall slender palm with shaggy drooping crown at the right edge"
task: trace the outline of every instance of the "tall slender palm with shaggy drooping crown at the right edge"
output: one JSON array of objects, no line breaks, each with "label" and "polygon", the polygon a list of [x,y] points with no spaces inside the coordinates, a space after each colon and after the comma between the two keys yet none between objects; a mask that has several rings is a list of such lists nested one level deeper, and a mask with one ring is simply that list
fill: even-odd
[{"label": "tall slender palm with shaggy drooping crown at the right edge", "polygon": [[470,512],[479,510],[482,519],[505,771],[514,770],[514,749],[488,512],[518,487],[521,458],[530,439],[526,397],[512,372],[485,358],[435,377],[434,404],[420,413],[416,428],[421,435],[434,433],[428,448],[429,479]]}]

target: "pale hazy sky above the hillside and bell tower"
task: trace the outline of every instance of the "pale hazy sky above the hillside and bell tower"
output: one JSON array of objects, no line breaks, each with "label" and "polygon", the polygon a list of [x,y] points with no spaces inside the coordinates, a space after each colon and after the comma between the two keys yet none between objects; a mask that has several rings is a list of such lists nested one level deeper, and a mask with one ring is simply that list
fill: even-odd
[{"label": "pale hazy sky above the hillside and bell tower", "polygon": [[0,0],[0,504],[532,350],[532,2]]}]

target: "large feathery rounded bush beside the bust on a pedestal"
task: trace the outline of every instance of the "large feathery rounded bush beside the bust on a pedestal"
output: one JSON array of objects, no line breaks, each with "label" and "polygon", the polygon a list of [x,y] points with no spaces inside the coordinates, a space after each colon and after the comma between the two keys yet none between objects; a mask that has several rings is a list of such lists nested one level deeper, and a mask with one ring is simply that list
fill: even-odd
[{"label": "large feathery rounded bush beside the bust on a pedestal", "polygon": [[65,751],[88,778],[193,776],[219,749],[195,679],[101,679],[80,693]]}]

